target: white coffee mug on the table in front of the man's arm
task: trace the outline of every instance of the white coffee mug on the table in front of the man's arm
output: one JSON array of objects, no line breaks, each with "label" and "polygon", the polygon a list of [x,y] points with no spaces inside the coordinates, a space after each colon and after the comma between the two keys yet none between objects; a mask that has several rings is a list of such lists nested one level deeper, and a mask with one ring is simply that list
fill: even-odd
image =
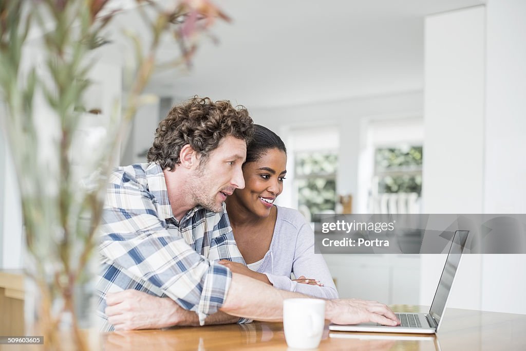
[{"label": "white coffee mug on the table in front of the man's arm", "polygon": [[325,300],[289,298],[283,302],[283,329],[291,348],[317,348],[325,327]]}]

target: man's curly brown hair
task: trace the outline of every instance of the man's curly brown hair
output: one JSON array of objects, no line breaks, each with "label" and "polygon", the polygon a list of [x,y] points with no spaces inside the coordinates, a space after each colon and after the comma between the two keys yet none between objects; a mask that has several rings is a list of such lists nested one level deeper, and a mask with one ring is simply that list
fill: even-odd
[{"label": "man's curly brown hair", "polygon": [[202,158],[219,146],[226,136],[249,142],[254,125],[243,106],[234,107],[229,101],[212,102],[208,97],[194,96],[188,102],[174,106],[155,131],[148,162],[173,170],[180,164],[181,148],[189,144]]}]

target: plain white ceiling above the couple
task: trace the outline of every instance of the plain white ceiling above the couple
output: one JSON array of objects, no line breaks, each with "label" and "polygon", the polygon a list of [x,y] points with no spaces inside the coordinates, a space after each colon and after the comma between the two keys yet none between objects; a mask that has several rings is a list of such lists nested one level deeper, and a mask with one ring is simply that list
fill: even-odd
[{"label": "plain white ceiling above the couple", "polygon": [[190,72],[156,74],[148,90],[249,108],[420,90],[424,16],[484,2],[216,1],[232,18],[213,27],[219,44],[204,37]]}]

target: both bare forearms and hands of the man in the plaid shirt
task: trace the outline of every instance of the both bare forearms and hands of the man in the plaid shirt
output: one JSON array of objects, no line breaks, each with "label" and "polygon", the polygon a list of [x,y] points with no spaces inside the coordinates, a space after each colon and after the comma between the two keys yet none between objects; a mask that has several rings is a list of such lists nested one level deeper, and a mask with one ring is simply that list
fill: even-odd
[{"label": "both bare forearms and hands of the man in the plaid shirt", "polygon": [[[276,289],[259,280],[232,273],[230,288],[220,312],[208,316],[205,324],[235,323],[238,317],[279,321],[283,319],[283,301],[286,298],[309,296]],[[332,323],[375,322],[391,326],[400,323],[386,305],[375,301],[336,299],[326,302],[325,318]],[[174,300],[151,296],[137,290],[108,293],[106,303],[108,323],[116,330],[199,325],[197,314],[179,306]]]}]

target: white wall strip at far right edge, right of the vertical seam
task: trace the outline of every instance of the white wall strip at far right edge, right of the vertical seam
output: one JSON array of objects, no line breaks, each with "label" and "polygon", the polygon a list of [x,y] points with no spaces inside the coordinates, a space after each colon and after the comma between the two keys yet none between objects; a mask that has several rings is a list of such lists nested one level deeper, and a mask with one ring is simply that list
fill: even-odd
[{"label": "white wall strip at far right edge, right of the vertical seam", "polygon": [[[489,0],[484,212],[526,213],[526,2]],[[482,306],[526,314],[526,255],[485,255]]]}]

